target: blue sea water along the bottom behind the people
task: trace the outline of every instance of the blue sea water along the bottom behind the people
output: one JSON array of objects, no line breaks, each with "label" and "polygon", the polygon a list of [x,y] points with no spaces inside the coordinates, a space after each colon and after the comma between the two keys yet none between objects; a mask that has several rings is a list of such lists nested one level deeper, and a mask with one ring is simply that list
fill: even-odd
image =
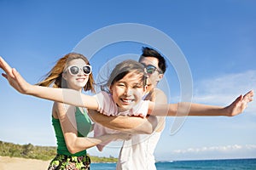
[{"label": "blue sea water along the bottom behind the people", "polygon": [[[256,159],[163,161],[155,165],[157,170],[256,170]],[[92,163],[91,170],[114,170],[115,166],[115,163]]]}]

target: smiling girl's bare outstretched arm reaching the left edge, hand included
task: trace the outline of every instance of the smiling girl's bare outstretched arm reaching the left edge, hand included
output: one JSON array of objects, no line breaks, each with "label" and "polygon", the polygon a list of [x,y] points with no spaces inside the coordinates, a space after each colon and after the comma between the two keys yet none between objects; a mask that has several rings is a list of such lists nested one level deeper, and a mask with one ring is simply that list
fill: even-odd
[{"label": "smiling girl's bare outstretched arm reaching the left edge, hand included", "polygon": [[9,81],[9,84],[20,92],[20,94],[28,94],[38,98],[63,102],[68,105],[89,108],[91,110],[97,110],[98,108],[96,98],[81,94],[76,90],[41,87],[26,82],[26,80],[20,76],[20,73],[14,68],[11,68],[1,57],[0,67],[5,71],[5,73],[2,73],[3,77],[5,77]]}]

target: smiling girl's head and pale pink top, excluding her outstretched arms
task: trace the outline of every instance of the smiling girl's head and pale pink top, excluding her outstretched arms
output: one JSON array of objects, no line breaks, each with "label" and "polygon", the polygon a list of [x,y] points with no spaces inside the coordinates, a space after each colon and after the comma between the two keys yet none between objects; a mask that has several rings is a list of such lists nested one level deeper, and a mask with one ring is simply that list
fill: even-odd
[{"label": "smiling girl's head and pale pink top, excluding her outstretched arms", "polygon": [[[104,108],[100,109],[100,112],[107,116],[147,116],[148,101],[142,100],[146,92],[146,80],[144,68],[137,61],[129,59],[116,65],[108,82],[102,85],[102,92],[96,94],[98,102]],[[95,137],[106,133],[119,133],[119,131],[96,123]],[[98,150],[102,151],[104,145],[109,142],[97,144]]]}]

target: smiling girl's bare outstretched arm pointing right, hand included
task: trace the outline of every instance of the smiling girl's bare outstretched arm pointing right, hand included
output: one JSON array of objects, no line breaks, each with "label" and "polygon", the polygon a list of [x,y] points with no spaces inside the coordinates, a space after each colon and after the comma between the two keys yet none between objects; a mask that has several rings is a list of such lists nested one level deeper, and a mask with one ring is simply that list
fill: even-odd
[{"label": "smiling girl's bare outstretched arm pointing right, hand included", "polygon": [[155,116],[236,116],[244,111],[247,104],[253,101],[253,90],[240,95],[228,106],[201,105],[180,102],[169,105],[154,105],[149,103],[148,114]]}]

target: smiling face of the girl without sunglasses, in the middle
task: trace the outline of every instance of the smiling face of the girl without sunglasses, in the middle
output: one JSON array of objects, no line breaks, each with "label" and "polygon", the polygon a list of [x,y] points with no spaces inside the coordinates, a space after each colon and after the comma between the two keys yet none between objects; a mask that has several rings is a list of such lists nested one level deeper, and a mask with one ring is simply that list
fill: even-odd
[{"label": "smiling face of the girl without sunglasses, in the middle", "polygon": [[119,111],[129,110],[143,99],[145,87],[142,77],[143,74],[130,72],[111,85],[113,101],[119,106]]}]

